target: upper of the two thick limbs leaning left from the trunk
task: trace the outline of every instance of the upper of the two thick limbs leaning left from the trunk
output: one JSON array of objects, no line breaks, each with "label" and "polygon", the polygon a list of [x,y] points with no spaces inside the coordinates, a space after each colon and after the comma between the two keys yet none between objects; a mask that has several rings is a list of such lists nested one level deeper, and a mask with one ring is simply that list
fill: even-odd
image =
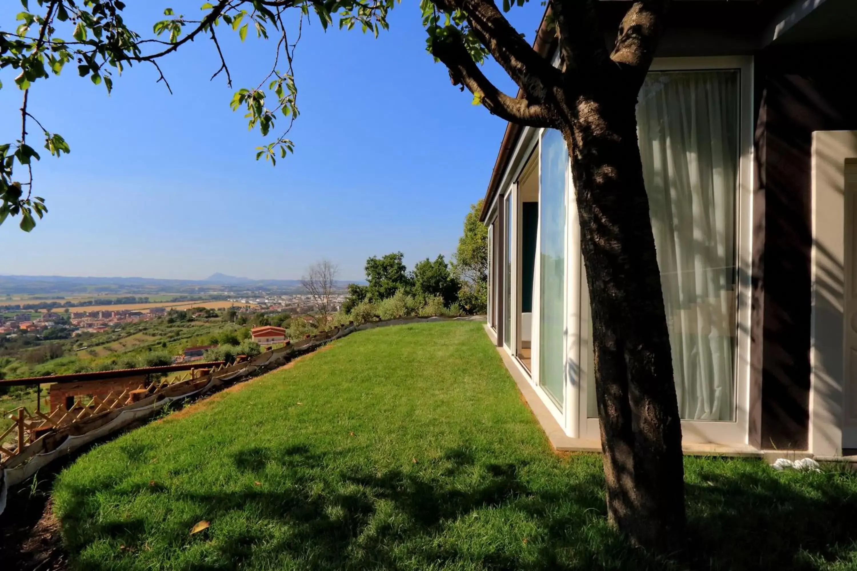
[{"label": "upper of the two thick limbs leaning left from the trunk", "polygon": [[555,74],[554,83],[559,82],[559,71],[533,50],[493,0],[432,1],[447,13],[461,10],[482,45],[528,97],[542,102],[550,88],[544,79]]}]

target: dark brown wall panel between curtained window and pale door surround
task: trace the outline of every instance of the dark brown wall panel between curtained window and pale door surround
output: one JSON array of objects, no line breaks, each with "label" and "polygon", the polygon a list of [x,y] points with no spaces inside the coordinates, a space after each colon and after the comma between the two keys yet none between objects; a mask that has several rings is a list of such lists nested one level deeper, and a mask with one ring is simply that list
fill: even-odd
[{"label": "dark brown wall panel between curtained window and pale door surround", "polygon": [[[855,81],[832,65],[836,51],[770,50],[757,57],[757,200],[764,193],[763,448],[806,449],[810,389],[812,132],[857,129]],[[758,333],[758,331],[757,331]],[[758,337],[754,339],[758,352]],[[754,371],[758,379],[758,370]]]}]

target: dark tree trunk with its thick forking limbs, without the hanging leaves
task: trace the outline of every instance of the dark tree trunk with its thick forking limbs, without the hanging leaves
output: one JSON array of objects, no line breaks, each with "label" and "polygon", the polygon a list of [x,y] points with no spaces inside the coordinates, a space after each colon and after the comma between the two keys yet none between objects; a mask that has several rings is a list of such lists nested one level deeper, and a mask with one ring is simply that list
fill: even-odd
[{"label": "dark tree trunk with its thick forking limbs, without the hanging leaves", "polygon": [[[637,96],[669,0],[636,0],[607,55],[597,0],[549,0],[554,68],[524,45],[493,0],[432,0],[470,30],[437,27],[432,53],[492,113],[566,140],[592,307],[596,396],[610,522],[661,552],[684,544],[684,468],[667,318],[637,140]],[[472,61],[475,36],[519,88],[500,92]],[[470,37],[470,40],[473,38]]]}]

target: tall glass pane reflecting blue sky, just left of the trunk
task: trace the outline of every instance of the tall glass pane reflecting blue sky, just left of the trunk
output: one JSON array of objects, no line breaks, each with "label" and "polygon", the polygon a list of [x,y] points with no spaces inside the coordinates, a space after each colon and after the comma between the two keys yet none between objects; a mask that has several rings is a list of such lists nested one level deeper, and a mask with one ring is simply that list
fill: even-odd
[{"label": "tall glass pane reflecting blue sky, just left of the trunk", "polygon": [[560,409],[566,365],[566,175],[568,152],[559,131],[542,135],[539,215],[539,384]]}]

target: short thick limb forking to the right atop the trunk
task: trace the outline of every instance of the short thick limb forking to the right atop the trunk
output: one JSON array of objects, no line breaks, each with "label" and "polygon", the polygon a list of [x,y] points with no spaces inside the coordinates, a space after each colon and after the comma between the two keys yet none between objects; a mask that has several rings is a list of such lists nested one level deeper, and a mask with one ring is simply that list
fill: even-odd
[{"label": "short thick limb forking to the right atop the trunk", "polygon": [[610,59],[642,85],[661,37],[670,0],[638,0],[626,12]]}]

